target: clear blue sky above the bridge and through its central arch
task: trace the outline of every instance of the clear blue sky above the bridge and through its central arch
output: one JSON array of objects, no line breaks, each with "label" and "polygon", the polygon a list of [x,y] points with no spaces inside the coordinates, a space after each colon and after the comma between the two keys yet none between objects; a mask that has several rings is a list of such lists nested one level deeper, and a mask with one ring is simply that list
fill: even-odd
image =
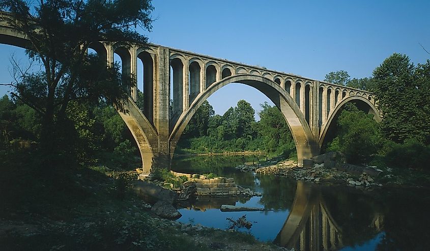
[{"label": "clear blue sky above the bridge and through its central arch", "polygon": [[[371,76],[394,52],[414,63],[430,55],[430,1],[169,1],[153,0],[150,42],[268,69],[324,79],[330,71]],[[0,45],[0,83],[10,82],[9,55]],[[0,87],[0,94],[6,88]],[[228,85],[209,98],[223,114],[239,99],[255,109],[268,99]]]}]

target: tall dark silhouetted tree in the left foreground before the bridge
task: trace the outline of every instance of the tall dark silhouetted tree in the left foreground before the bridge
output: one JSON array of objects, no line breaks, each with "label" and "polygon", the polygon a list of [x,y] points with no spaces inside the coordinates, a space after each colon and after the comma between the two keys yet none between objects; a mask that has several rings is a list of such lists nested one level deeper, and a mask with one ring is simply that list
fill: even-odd
[{"label": "tall dark silhouetted tree in the left foreground before the bridge", "polygon": [[99,41],[119,41],[117,45],[124,47],[146,43],[135,29],[151,30],[150,0],[0,0],[0,10],[10,13],[8,24],[26,36],[28,57],[41,65],[33,73],[15,70],[12,96],[42,118],[41,146],[46,153],[65,145],[58,134],[67,131],[61,125],[67,124],[71,101],[103,99],[125,111],[123,100],[132,79],[121,76],[118,66],[106,67],[106,62],[86,52]]}]

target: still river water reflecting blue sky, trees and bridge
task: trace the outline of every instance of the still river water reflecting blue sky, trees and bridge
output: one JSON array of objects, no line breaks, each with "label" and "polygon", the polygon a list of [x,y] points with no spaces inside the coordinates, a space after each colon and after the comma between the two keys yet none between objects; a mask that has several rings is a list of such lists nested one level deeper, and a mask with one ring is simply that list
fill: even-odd
[{"label": "still river water reflecting blue sky, trees and bridge", "polygon": [[[430,250],[428,189],[382,188],[360,191],[321,186],[272,175],[236,171],[257,156],[174,158],[172,170],[233,177],[262,197],[200,198],[179,211],[184,223],[228,228],[226,218],[246,214],[251,233],[261,241],[295,250]],[[257,212],[221,212],[222,204],[264,208]]]}]

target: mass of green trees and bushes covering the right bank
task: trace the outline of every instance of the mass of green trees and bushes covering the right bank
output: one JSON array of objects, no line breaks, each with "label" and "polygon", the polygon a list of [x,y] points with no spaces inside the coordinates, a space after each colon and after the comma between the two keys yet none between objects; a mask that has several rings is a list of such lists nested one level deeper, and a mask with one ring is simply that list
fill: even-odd
[{"label": "mass of green trees and bushes covering the right bank", "polygon": [[[364,89],[375,92],[382,122],[346,105],[337,119],[338,134],[328,143],[327,150],[344,153],[351,163],[427,169],[430,61],[415,66],[406,55],[394,53],[367,80],[371,85]],[[346,83],[349,85],[349,81]]]}]

